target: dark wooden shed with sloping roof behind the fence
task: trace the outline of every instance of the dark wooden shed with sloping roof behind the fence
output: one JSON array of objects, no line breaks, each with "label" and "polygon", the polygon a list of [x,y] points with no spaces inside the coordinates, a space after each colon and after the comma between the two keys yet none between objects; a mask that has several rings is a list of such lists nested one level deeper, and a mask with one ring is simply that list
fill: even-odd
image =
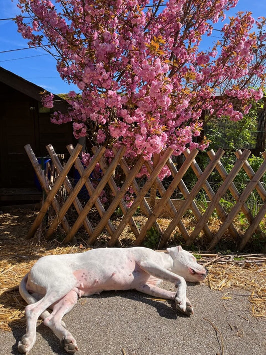
[{"label": "dark wooden shed with sloping roof behind the fence", "polygon": [[[66,153],[74,143],[72,124],[50,122],[51,111],[41,103],[44,89],[0,67],[0,187],[34,188],[34,171],[24,151],[30,144],[36,156],[46,156],[52,144]],[[55,95],[53,110],[65,112],[67,102]],[[2,198],[1,198],[2,200]]]}]

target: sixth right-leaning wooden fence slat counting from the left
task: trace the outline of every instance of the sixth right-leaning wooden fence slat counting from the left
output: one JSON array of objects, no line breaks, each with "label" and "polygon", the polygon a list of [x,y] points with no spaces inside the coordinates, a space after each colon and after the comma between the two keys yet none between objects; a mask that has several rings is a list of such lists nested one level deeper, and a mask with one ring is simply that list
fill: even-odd
[{"label": "sixth right-leaning wooden fence slat counting from the left", "polygon": [[187,172],[188,168],[190,167],[190,164],[192,163],[193,159],[196,157],[197,154],[198,154],[198,150],[197,149],[193,149],[191,151],[191,153],[188,155],[188,157],[186,158],[185,162],[182,164],[181,168],[179,169],[179,172],[173,178],[170,186],[164,192],[164,194],[162,194],[162,196],[161,196],[162,198],[161,198],[160,204],[158,203],[155,206],[152,216],[148,219],[148,221],[146,222],[145,226],[142,228],[142,230],[141,230],[141,232],[140,232],[135,244],[141,244],[143,242],[147,231],[152,227],[154,221],[159,216],[159,214],[162,211],[162,209],[164,208],[165,204],[167,204],[167,201],[172,196],[174,190],[176,189],[177,185],[180,183],[181,179],[183,178],[183,176]]}]

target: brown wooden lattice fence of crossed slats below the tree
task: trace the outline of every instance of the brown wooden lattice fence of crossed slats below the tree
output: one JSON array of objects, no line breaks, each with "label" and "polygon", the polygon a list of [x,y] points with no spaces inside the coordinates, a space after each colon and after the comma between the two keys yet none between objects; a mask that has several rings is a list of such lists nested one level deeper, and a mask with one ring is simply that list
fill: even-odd
[{"label": "brown wooden lattice fence of crossed slats below the tree", "polygon": [[[184,152],[185,160],[179,170],[177,170],[176,165],[171,160],[171,154],[173,152],[171,148],[166,149],[163,154],[159,155],[153,165],[145,161],[143,157],[139,157],[135,165],[131,168],[129,168],[126,158],[123,157],[125,152],[124,147],[121,147],[119,150],[113,149],[114,158],[110,164],[107,164],[104,157],[105,148],[95,148],[93,151],[94,155],[86,169],[83,168],[79,159],[82,148],[81,145],[77,144],[75,148],[72,145],[67,147],[70,157],[64,166],[62,166],[53,147],[48,145],[46,148],[52,162],[49,173],[47,169],[46,172],[41,169],[31,147],[29,145],[25,146],[26,153],[45,193],[42,206],[28,232],[27,238],[31,238],[35,234],[37,229],[41,226],[48,209],[52,208],[54,210],[54,218],[45,226],[44,237],[50,239],[60,225],[65,233],[63,243],[71,242],[81,225],[84,226],[88,235],[87,242],[89,245],[94,245],[103,230],[107,231],[109,235],[109,247],[119,243],[119,237],[127,226],[130,226],[135,236],[135,245],[141,245],[147,232],[151,230],[151,228],[154,228],[159,235],[158,248],[165,246],[176,228],[178,228],[179,233],[181,233],[184,244],[188,246],[194,243],[196,238],[204,234],[208,249],[213,249],[227,231],[237,241],[239,250],[242,250],[246,246],[254,233],[257,233],[261,240],[265,241],[265,235],[260,228],[260,223],[266,215],[266,190],[260,180],[266,172],[266,152],[263,153],[264,161],[262,165],[255,173],[248,163],[247,159],[251,152],[247,149],[243,152],[241,150],[236,152],[238,160],[232,170],[227,172],[220,161],[224,154],[222,149],[219,149],[216,153],[213,150],[208,152],[210,161],[204,171],[202,171],[195,160],[198,154],[198,150],[196,149],[192,151],[186,150]],[[103,176],[98,181],[97,186],[93,186],[90,176],[96,164],[99,164]],[[144,185],[140,187],[136,176],[143,165],[146,166],[150,175]],[[172,180],[168,187],[165,187],[158,177],[165,165],[168,166],[172,174]],[[71,179],[69,178],[69,172],[73,166],[75,166],[75,169],[77,169],[80,175],[80,178],[75,184],[71,183]],[[124,179],[122,183],[120,181],[120,186],[118,186],[118,182],[115,181],[113,177],[113,173],[118,167],[124,174]],[[197,177],[197,182],[190,191],[183,180],[189,168],[193,170]],[[216,169],[223,179],[223,183],[221,183],[217,191],[214,191],[207,180],[214,169]],[[244,169],[250,180],[246,187],[240,192],[234,184],[234,179],[241,169]],[[88,198],[86,203],[82,204],[78,196],[81,189],[84,189],[84,186]],[[106,186],[109,187],[113,194],[113,199],[107,207],[102,204],[100,199],[100,195]],[[134,191],[135,198],[132,205],[127,207],[124,195],[130,187]],[[150,197],[152,197],[151,191],[154,188],[157,198],[155,201],[152,201],[152,198],[148,200],[146,198],[147,194],[149,193]],[[65,194],[63,203],[59,201],[60,199],[58,197],[59,191],[62,189]],[[171,199],[176,189],[179,189],[184,198],[179,208],[175,207],[174,201]],[[201,203],[196,199],[196,196],[202,189],[207,198],[205,209],[202,209]],[[254,213],[252,213],[246,204],[250,194],[254,191],[257,191],[261,198],[261,205],[258,207],[256,216],[254,216]],[[228,192],[230,192],[235,200],[230,211],[226,211],[221,203],[221,200]],[[158,197],[160,197],[159,200]],[[149,201],[149,203],[147,201]],[[123,216],[115,227],[112,221],[112,215],[118,207],[120,207]],[[147,217],[146,224],[142,228],[137,225],[134,219],[134,214],[139,207],[142,213]],[[66,218],[70,208],[74,208],[77,212],[77,218],[71,226]],[[88,213],[92,208],[96,209],[99,215],[99,220],[96,224],[88,219]],[[165,210],[168,212],[169,216],[171,216],[171,221],[167,228],[162,230],[158,223],[158,218]],[[196,221],[195,228],[192,232],[188,230],[183,222],[184,215],[188,210],[192,211]],[[235,226],[235,221],[240,212],[244,214],[248,223],[248,227],[242,234],[238,232]],[[210,223],[210,218],[213,213],[216,213],[218,219],[221,221],[219,229],[216,231],[212,230]]]}]

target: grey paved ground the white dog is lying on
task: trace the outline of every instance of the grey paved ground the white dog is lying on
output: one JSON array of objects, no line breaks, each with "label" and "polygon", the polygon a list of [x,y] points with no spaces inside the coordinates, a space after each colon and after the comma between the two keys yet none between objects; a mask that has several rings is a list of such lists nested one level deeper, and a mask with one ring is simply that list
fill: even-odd
[{"label": "grey paved ground the white dog is lying on", "polygon": [[[163,287],[173,289],[164,283]],[[231,299],[222,296],[230,291]],[[77,340],[77,355],[266,355],[266,320],[250,312],[247,292],[218,292],[188,285],[195,314],[179,314],[171,301],[136,291],[82,298],[64,317]],[[0,332],[0,355],[17,355],[25,329]],[[66,354],[42,323],[29,355]]]}]

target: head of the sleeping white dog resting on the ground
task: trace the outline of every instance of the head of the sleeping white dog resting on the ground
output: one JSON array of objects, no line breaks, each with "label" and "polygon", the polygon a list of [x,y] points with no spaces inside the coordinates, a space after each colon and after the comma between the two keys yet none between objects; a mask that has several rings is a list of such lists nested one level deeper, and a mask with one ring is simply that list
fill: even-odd
[{"label": "head of the sleeping white dog resting on the ground", "polygon": [[206,278],[208,270],[197,263],[197,259],[191,253],[184,250],[180,245],[167,248],[173,259],[171,271],[182,276],[188,282],[199,282]]}]

